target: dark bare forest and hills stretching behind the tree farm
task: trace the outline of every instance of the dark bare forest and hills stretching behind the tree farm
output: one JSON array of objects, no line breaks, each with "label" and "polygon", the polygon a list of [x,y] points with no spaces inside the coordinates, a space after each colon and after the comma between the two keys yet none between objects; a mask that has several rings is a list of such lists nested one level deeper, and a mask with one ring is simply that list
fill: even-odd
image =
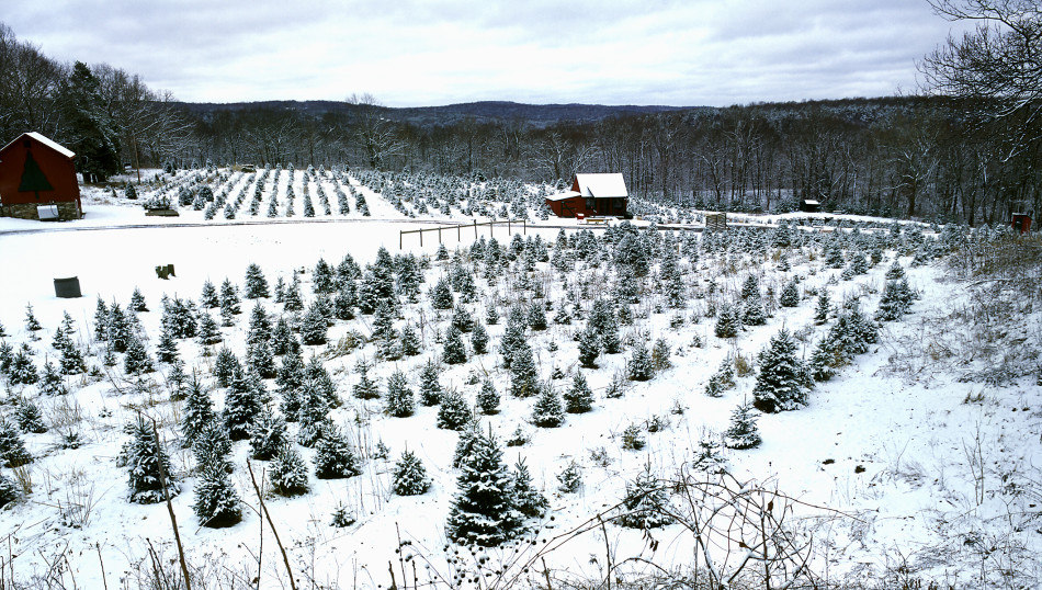
[{"label": "dark bare forest and hills stretching behind the tree farm", "polygon": [[[1040,211],[1034,121],[981,101],[892,97],[729,107],[191,104],[106,64],[57,63],[0,23],[0,141],[37,131],[88,180],[133,168],[324,164],[567,182],[622,172],[631,193],[726,211],[827,209],[970,225]],[[1028,116],[1028,115],[1026,115]]]}]

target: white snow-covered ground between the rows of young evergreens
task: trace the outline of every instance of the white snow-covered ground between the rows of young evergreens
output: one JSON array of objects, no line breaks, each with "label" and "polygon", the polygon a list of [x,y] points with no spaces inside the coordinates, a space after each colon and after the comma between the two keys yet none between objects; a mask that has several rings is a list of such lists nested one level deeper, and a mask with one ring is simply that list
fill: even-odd
[{"label": "white snow-covered ground between the rows of young evergreens", "polygon": [[[331,409],[329,416],[354,444],[361,474],[343,479],[318,479],[313,474],[307,493],[267,498],[297,588],[386,588],[393,575],[399,587],[408,587],[414,579],[421,585],[451,580],[452,572],[460,568],[490,572],[479,583],[483,587],[507,582],[545,586],[548,578],[558,585],[567,579],[599,583],[609,576],[611,565],[619,567],[613,576],[631,580],[661,574],[647,563],[677,576],[690,576],[684,568],[705,564],[701,554],[693,553],[696,535],[681,524],[644,532],[609,522],[574,538],[568,532],[599,513],[605,520],[615,515],[618,511],[611,509],[642,470],[648,469],[662,480],[676,479],[681,470],[698,473],[696,464],[706,449],[700,443],[718,446],[733,410],[744,400],[752,400],[759,368],[757,353],[785,328],[796,333],[800,356],[808,359],[814,344],[834,325],[835,310],[827,322],[815,322],[817,297],[812,293],[827,291],[834,308],[846,298],[859,297],[861,308],[871,316],[884,292],[884,274],[895,261],[904,266],[910,286],[921,293],[910,314],[899,321],[882,322],[879,341],[840,367],[831,379],[816,383],[808,392],[806,407],[759,416],[761,445],[741,451],[718,447],[721,465],[750,489],[778,490],[771,496],[777,510],[791,510],[784,518],[784,532],[808,548],[801,549],[803,553],[789,564],[788,571],[779,570],[779,579],[792,575],[791,567],[806,560],[813,579],[847,587],[863,583],[901,588],[902,583],[921,579],[922,588],[931,580],[941,588],[1028,588],[1042,580],[1038,558],[1042,552],[1042,387],[1037,384],[1038,371],[987,383],[971,374],[986,373],[988,367],[978,364],[981,359],[996,359],[995,351],[977,358],[977,365],[954,363],[961,358],[953,352],[951,339],[959,332],[951,327],[949,316],[971,306],[970,292],[966,282],[952,280],[941,262],[913,268],[915,245],[903,246],[904,252],[886,248],[883,261],[865,274],[841,279],[842,268],[825,264],[826,246],[841,241],[848,261],[854,253],[868,253],[859,251],[854,240],[837,237],[847,232],[825,238],[807,232],[809,238],[797,240],[800,245],[781,247],[769,243],[773,229],[759,231],[767,240],[762,246],[721,246],[716,240],[712,248],[705,247],[704,239],[687,239],[678,232],[678,240],[669,243],[680,251],[684,303],[679,309],[664,303],[665,281],[659,280],[664,232],[645,238],[654,245],[655,258],[649,262],[648,276],[637,281],[638,303],[625,306],[632,319],[620,326],[622,351],[601,353],[598,368],[579,366],[575,334],[586,326],[594,299],[619,300],[612,246],[596,240],[598,251],[590,258],[573,260],[568,272],[554,270],[548,261],[535,262],[526,280],[522,280],[523,253],[518,261],[499,266],[490,279],[484,275],[484,261],[461,259],[461,264],[477,277],[477,296],[463,306],[482,321],[487,309],[495,306],[500,320],[486,326],[491,338],[487,353],[475,354],[469,334],[463,334],[466,362],[444,365],[440,383],[444,389],[461,392],[471,404],[486,378],[495,384],[502,398],[500,411],[480,417],[482,428],[490,429],[498,438],[508,465],[523,457],[535,487],[550,502],[547,514],[531,520],[533,532],[522,537],[535,538],[534,544],[489,551],[482,554],[488,560],[480,567],[464,567],[445,538],[461,473],[452,467],[460,433],[438,428],[437,406],[417,404],[414,416],[395,418],[383,412],[383,399],[362,400],[352,393],[360,379],[355,371],[359,360],[371,364],[369,376],[377,382],[381,393],[396,370],[401,370],[419,393],[420,367],[443,353],[438,332],[446,331],[452,316],[451,309],[434,308],[428,291],[450,274],[452,261],[435,260],[438,241],[432,234],[424,236],[423,248],[418,246],[416,235],[405,236],[405,248],[399,250],[399,231],[446,222],[466,224],[472,217],[458,209],[450,209],[449,215],[409,217],[380,193],[366,191],[370,216],[361,216],[355,209],[315,218],[239,215],[237,219],[206,220],[203,211],[182,207],[177,218],[146,218],[138,206],[127,206],[122,198],[90,194],[82,220],[42,225],[0,219],[3,340],[14,350],[27,344],[35,351],[34,362],[39,368],[47,359],[56,361],[52,336],[63,314],[68,313],[75,321],[78,345],[87,354],[87,365],[97,367],[95,376],[79,373],[65,377],[71,393],[61,396],[47,396],[37,385],[12,385],[0,375],[4,384],[3,415],[14,420],[19,400],[29,399],[39,407],[48,426],[43,433],[21,434],[34,457],[32,463],[18,474],[3,469],[5,476],[19,480],[23,491],[0,510],[0,540],[9,548],[0,558],[3,583],[20,580],[41,588],[145,587],[155,577],[152,557],[170,576],[178,575],[167,508],[162,503],[129,502],[127,468],[117,465],[121,447],[128,440],[124,424],[140,412],[157,419],[171,456],[171,475],[181,486],[172,506],[190,567],[199,570],[199,583],[193,588],[251,587],[254,579],[262,588],[288,587],[286,566],[271,529],[258,512],[247,469],[249,442],[236,442],[230,457],[231,480],[245,506],[242,521],[226,529],[202,526],[193,511],[195,457],[179,444],[183,402],[170,400],[166,379],[169,365],[155,363],[156,371],[146,373],[143,381],[125,375],[122,362],[102,367],[105,344],[92,338],[95,304],[100,298],[126,307],[131,294],[139,290],[149,310],[139,313],[138,319],[146,348],[155,360],[165,295],[197,300],[204,282],[219,286],[226,277],[241,293],[247,266],[257,263],[272,286],[280,277],[291,283],[294,271],[303,270],[298,276],[306,307],[315,299],[312,287],[319,259],[336,266],[344,254],[351,254],[364,268],[375,261],[381,248],[392,256],[412,253],[430,261],[416,302],[403,297],[395,321],[396,329],[409,325],[419,332],[421,351],[381,360],[378,342],[338,349],[352,332],[370,338],[374,331],[372,315],[337,320],[329,327],[328,344],[303,347],[304,361],[317,355],[336,384],[343,404]],[[635,225],[646,227],[647,223]],[[558,232],[564,231],[574,243],[577,232],[586,227],[573,220],[533,220],[523,237],[539,236],[544,245],[553,247]],[[521,232],[516,225],[512,229],[513,234]],[[608,231],[600,227],[593,230],[598,236]],[[506,227],[496,226],[491,231],[501,247],[510,245]],[[909,232],[903,232],[898,242]],[[482,235],[488,240],[489,228],[483,228]],[[754,234],[744,236],[752,239],[749,236]],[[444,237],[449,251],[458,247],[461,254],[473,242],[473,231],[467,235],[467,230],[460,243],[454,230]],[[554,248],[550,252],[556,253]],[[783,262],[788,262],[789,270]],[[173,264],[177,276],[158,279],[155,266],[160,264]],[[764,325],[747,326],[736,338],[718,338],[714,333],[716,318],[710,317],[710,311],[738,300],[750,274],[758,277],[762,292],[758,298],[772,314]],[[65,276],[79,277],[81,298],[54,296],[53,279]],[[778,294],[797,276],[799,305],[779,307]],[[539,291],[545,298],[533,298]],[[533,426],[530,419],[534,400],[508,393],[511,372],[502,366],[499,341],[510,308],[533,300],[552,304],[546,311],[547,328],[529,330],[525,336],[539,378],[552,382],[558,393],[564,393],[571,387],[573,375],[581,372],[594,393],[592,410],[568,413],[560,428]],[[273,298],[258,302],[273,318],[283,314],[283,304]],[[33,340],[24,326],[26,305],[32,305],[43,326],[38,340]],[[220,329],[223,343],[214,349],[227,345],[246,361],[253,306],[254,302],[242,299],[242,314],[235,317],[233,326]],[[554,320],[560,306],[571,311],[568,324]],[[1020,310],[1024,315],[1007,327],[1005,332],[1009,333],[1004,332],[997,345],[1011,347],[1015,342],[1020,348],[1033,348],[1037,355],[1042,350],[1040,311]],[[212,311],[219,320],[216,310]],[[624,393],[608,397],[613,379],[627,373],[635,348],[643,343],[650,349],[659,339],[668,345],[671,366],[656,371],[649,381],[622,379]],[[186,370],[199,372],[219,409],[225,388],[217,387],[212,375],[212,351],[195,339],[180,340],[178,349]],[[733,366],[738,360],[736,385],[722,397],[706,396],[706,383],[727,359]],[[553,378],[555,370],[559,370],[559,378]],[[274,381],[269,379],[267,386],[273,408],[278,408],[280,395]],[[637,427],[646,446],[624,447],[628,427]],[[296,428],[291,423],[291,434]],[[505,441],[519,429],[530,442],[506,446]],[[78,449],[60,444],[61,435],[70,431],[78,432],[82,440]],[[378,443],[389,450],[386,457],[378,456]],[[431,478],[431,487],[423,495],[401,497],[392,492],[395,463],[406,449],[416,453]],[[298,446],[298,451],[310,467],[315,450]],[[267,463],[252,461],[254,472],[260,474]],[[573,463],[578,466],[582,485],[575,492],[560,491],[558,476]],[[707,475],[699,475],[699,481],[715,480],[712,469],[703,473]],[[30,488],[31,492],[24,493]],[[677,490],[673,501],[679,504],[681,498]],[[355,520],[353,524],[331,524],[338,506],[346,507]],[[560,543],[565,538],[568,542]],[[709,533],[705,538],[722,540]],[[806,542],[811,544],[804,545]],[[715,567],[736,567],[740,558],[737,555],[745,552],[733,548],[736,553],[728,557],[725,548],[711,547],[709,554]],[[641,560],[633,559],[636,557]],[[531,568],[524,570],[530,560]]]}]

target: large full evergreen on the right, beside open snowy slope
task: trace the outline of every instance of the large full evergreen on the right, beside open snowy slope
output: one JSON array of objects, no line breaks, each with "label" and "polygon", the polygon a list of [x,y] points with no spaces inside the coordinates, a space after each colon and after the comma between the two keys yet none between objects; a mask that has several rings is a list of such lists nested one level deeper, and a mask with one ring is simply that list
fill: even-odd
[{"label": "large full evergreen on the right, beside open snowy slope", "polygon": [[796,354],[796,342],[782,328],[757,355],[760,373],[752,388],[754,405],[764,413],[794,410],[807,402],[811,372]]}]

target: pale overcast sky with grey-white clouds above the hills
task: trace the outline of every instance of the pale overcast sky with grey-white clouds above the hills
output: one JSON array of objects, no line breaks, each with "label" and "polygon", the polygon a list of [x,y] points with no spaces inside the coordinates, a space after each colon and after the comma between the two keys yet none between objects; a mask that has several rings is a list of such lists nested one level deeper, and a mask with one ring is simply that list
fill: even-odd
[{"label": "pale overcast sky with grey-white clouds above the hills", "polygon": [[745,104],[881,97],[952,23],[926,0],[5,0],[60,60],[183,101]]}]

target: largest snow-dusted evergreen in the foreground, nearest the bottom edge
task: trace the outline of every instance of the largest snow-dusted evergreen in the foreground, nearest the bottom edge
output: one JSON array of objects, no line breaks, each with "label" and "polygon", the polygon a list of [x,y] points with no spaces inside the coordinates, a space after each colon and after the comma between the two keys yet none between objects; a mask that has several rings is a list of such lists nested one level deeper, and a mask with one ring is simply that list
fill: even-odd
[{"label": "largest snow-dusted evergreen in the foreground, nearest the bottom edge", "polygon": [[445,535],[461,545],[495,547],[516,538],[521,522],[499,443],[491,432],[479,432],[461,465]]}]

